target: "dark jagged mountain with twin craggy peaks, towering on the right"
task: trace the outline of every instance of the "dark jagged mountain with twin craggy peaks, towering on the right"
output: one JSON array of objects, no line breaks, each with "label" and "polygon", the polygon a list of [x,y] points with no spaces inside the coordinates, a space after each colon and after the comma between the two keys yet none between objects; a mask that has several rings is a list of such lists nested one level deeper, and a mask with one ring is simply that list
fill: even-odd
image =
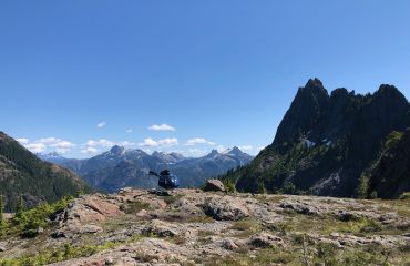
[{"label": "dark jagged mountain with twin craggy peaks, towering on the right", "polygon": [[[312,79],[299,88],[274,142],[222,178],[244,192],[394,197],[410,191],[409,126],[410,104],[393,85],[329,94]],[[393,132],[401,137],[387,147]]]}]

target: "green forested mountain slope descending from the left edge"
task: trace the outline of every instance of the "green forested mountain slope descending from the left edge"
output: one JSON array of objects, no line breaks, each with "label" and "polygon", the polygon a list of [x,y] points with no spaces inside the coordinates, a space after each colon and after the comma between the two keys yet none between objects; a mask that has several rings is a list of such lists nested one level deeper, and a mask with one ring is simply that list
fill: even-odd
[{"label": "green forested mountain slope descending from the left edge", "polygon": [[25,207],[32,207],[42,201],[55,202],[79,191],[91,190],[73,172],[39,160],[16,140],[0,132],[0,194],[7,212],[14,209],[20,196]]}]

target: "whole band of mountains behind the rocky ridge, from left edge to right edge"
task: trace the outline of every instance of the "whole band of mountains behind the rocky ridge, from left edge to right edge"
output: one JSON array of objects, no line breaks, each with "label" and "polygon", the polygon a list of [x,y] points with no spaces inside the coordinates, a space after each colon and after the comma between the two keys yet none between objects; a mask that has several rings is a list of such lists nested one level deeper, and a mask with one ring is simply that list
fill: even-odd
[{"label": "whole band of mountains behind the rocky ridge, from left edge to right edge", "polygon": [[157,180],[148,172],[167,168],[182,187],[222,175],[239,192],[393,198],[410,191],[409,127],[410,104],[396,86],[329,94],[312,79],[299,88],[273,143],[255,158],[238,147],[194,158],[116,145],[85,160],[35,156],[0,132],[0,194],[12,211],[20,196],[30,207],[90,187],[151,188]]}]

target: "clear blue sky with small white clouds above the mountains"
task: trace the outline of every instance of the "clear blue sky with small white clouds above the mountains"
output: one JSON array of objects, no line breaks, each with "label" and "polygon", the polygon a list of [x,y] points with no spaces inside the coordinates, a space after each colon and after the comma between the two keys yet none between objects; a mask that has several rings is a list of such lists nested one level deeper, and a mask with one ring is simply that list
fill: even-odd
[{"label": "clear blue sky with small white clouds above the mountains", "polygon": [[0,130],[69,157],[256,154],[309,78],[409,99],[409,14],[407,0],[1,0]]}]

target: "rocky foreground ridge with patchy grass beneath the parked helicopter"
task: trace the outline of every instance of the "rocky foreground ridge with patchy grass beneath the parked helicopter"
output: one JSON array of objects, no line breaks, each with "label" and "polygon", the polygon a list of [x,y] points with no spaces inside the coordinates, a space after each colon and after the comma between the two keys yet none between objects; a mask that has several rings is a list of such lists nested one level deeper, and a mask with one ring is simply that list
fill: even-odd
[{"label": "rocky foreground ridge with patchy grass beneath the parked helicopter", "polygon": [[409,200],[123,188],[3,233],[0,265],[410,265],[409,228]]}]

